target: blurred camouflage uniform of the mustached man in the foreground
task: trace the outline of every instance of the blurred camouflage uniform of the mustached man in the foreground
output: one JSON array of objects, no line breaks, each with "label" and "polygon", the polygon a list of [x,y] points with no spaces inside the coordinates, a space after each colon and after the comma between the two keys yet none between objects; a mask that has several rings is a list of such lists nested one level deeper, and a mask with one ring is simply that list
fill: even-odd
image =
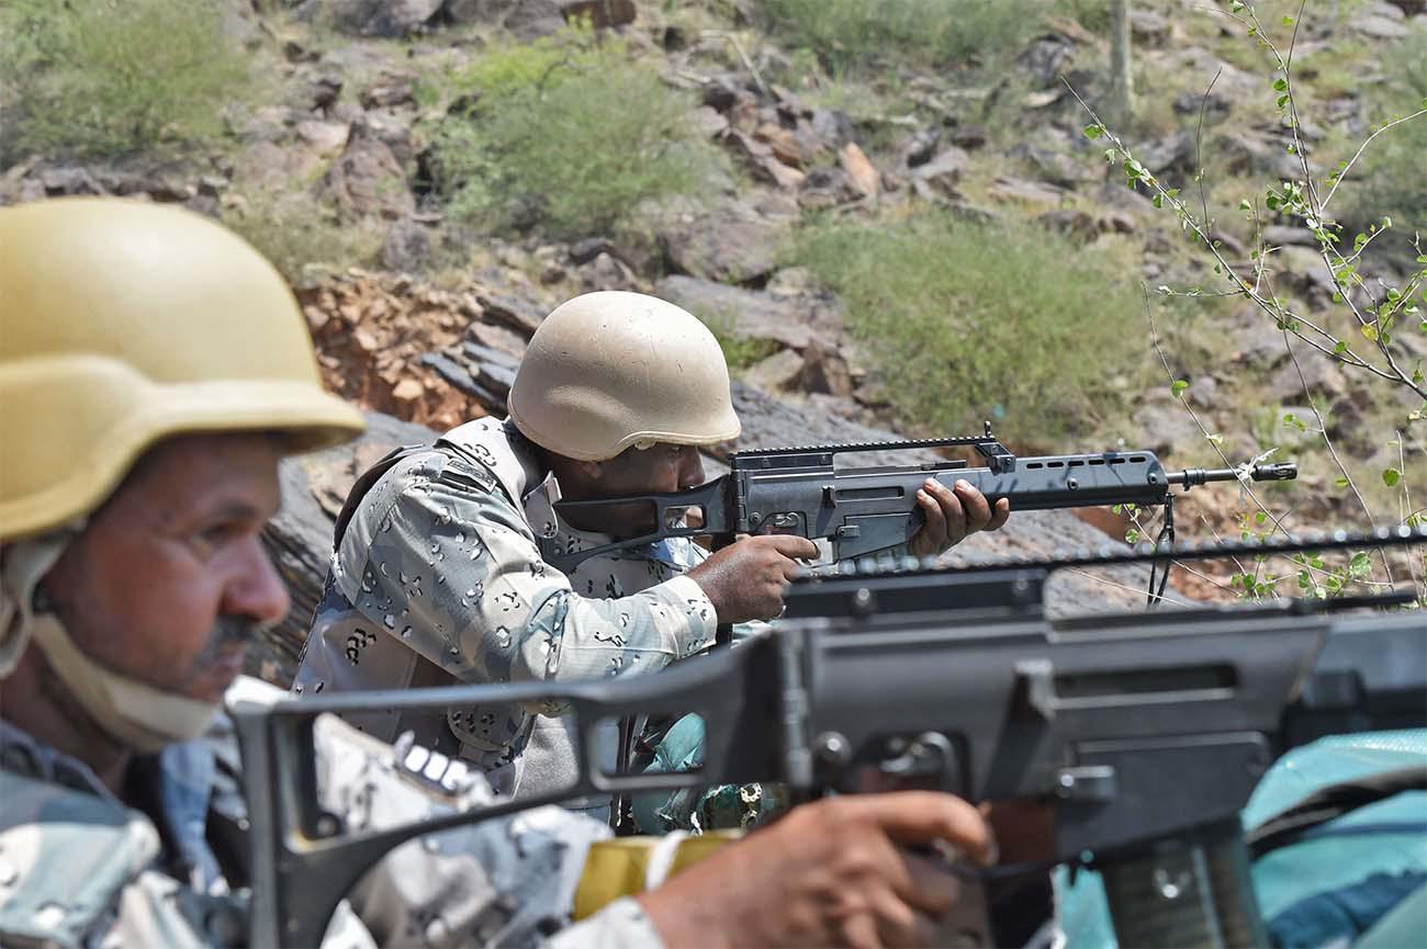
[{"label": "blurred camouflage uniform of the mustached man in the foreground", "polygon": [[[475,778],[432,793],[390,745],[324,716],[323,805],[348,829],[407,823],[489,796]],[[138,758],[131,809],[81,762],[0,721],[0,943],[233,946],[247,940],[245,816],[225,721],[208,739]],[[534,945],[568,923],[606,826],[558,808],[458,828],[392,851],[352,889],[323,946]],[[477,856],[479,855],[479,856]],[[555,949],[659,945],[638,903],[565,928]]]}]

